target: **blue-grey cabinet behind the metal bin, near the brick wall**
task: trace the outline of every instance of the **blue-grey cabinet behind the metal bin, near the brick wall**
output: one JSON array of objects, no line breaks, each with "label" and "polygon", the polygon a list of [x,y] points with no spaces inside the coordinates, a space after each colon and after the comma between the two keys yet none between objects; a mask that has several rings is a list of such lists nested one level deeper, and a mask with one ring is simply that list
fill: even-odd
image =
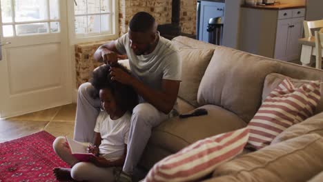
[{"label": "blue-grey cabinet behind the metal bin, near the brick wall", "polygon": [[222,17],[224,21],[224,1],[201,1],[201,14],[199,16],[199,40],[208,42],[208,20]]}]

